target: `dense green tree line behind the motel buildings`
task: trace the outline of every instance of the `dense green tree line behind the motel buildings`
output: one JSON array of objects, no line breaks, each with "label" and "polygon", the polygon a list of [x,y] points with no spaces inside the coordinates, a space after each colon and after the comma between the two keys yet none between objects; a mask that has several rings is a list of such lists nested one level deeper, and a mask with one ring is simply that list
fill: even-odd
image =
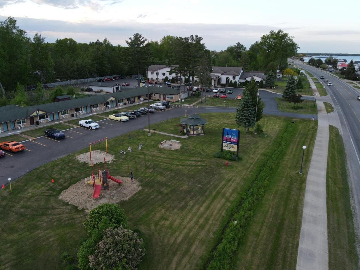
[{"label": "dense green tree line behind the motel buildings", "polygon": [[89,43],[64,38],[49,43],[40,33],[28,37],[16,20],[8,17],[0,22],[0,83],[5,91],[14,91],[18,82],[26,86],[114,74],[132,75],[145,72],[150,64],[176,64],[174,72],[192,78],[211,71],[211,66],[275,73],[278,67],[286,67],[287,58],[299,48],[293,37],[283,30],[270,31],[248,49],[237,42],[219,52],[208,50],[199,35],[168,35],[160,41],[151,41],[135,33],[126,43],[127,46],[113,45],[106,38]]}]

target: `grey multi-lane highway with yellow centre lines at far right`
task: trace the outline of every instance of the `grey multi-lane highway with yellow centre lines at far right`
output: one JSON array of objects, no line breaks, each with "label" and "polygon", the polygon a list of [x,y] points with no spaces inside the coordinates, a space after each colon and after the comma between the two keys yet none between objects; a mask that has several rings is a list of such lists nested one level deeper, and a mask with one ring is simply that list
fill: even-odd
[{"label": "grey multi-lane highway with yellow centre lines at far right", "polygon": [[315,75],[319,81],[320,76],[324,76],[329,82],[333,83],[333,86],[327,86],[328,91],[334,108],[337,110],[340,123],[343,140],[345,143],[345,149],[347,152],[347,162],[350,172],[350,187],[352,189],[352,202],[355,206],[355,225],[359,228],[360,225],[360,101],[356,100],[356,97],[360,95],[359,89],[352,87],[351,84],[347,84],[345,81],[331,75],[329,72],[322,71],[318,68],[314,68],[296,62],[299,66],[305,68],[307,71]]}]

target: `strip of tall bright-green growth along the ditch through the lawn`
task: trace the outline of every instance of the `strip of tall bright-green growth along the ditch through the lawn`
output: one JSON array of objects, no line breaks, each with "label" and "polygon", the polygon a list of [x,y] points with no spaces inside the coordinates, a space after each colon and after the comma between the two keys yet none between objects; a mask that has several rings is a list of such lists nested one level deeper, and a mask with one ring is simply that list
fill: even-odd
[{"label": "strip of tall bright-green growth along the ditch through the lawn", "polygon": [[[283,134],[274,143],[273,154],[258,166],[258,173],[252,179],[250,188],[235,200],[230,219],[220,236],[217,246],[211,253],[206,269],[231,268],[239,243],[244,239],[246,228],[255,214],[258,204],[264,197],[269,181],[272,180],[274,168],[284,157],[285,150],[296,131],[297,126],[292,123],[285,127]],[[237,224],[234,221],[237,221]]]}]

